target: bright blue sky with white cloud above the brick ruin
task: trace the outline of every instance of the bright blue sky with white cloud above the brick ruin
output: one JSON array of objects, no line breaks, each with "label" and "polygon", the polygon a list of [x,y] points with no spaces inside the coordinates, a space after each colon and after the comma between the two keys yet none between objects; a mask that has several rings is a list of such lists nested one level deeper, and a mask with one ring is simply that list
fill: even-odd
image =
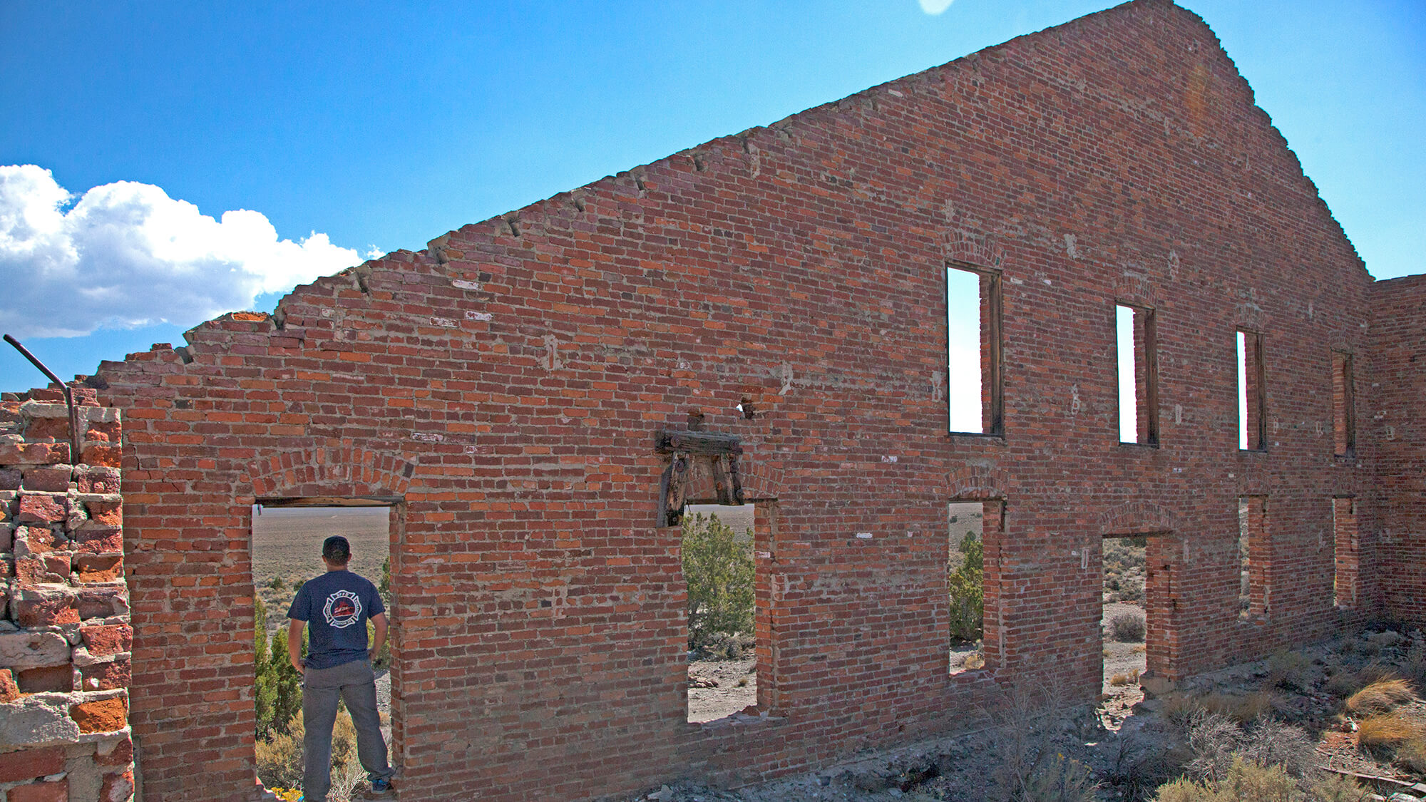
[{"label": "bright blue sky with white cloud above the brick ruin", "polygon": [[[1426,271],[1426,4],[1182,4],[1218,33],[1368,270]],[[1105,6],[451,3],[398,13],[351,3],[338,13],[297,1],[10,0],[0,4],[0,166],[43,168],[13,173],[11,196],[78,200],[104,187],[76,207],[81,251],[123,250],[121,227],[147,215],[148,235],[167,233],[171,253],[137,267],[88,264],[66,250],[71,234],[56,234],[0,258],[0,280],[24,307],[0,323],[60,375],[87,374],[151,342],[181,344],[212,304],[257,294],[238,305],[271,310],[312,270],[421,248],[465,223]],[[110,287],[103,297],[76,294],[90,271]],[[224,293],[208,293],[215,284]],[[96,330],[106,304],[128,311]],[[124,328],[157,317],[171,323]],[[83,331],[93,333],[53,335]],[[36,384],[37,371],[0,350],[0,390]]]}]

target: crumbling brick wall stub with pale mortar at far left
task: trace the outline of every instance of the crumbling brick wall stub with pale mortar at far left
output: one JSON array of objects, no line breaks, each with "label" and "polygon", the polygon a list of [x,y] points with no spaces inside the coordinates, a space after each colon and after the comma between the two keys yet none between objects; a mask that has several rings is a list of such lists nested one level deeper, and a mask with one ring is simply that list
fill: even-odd
[{"label": "crumbling brick wall stub with pale mortar at far left", "polygon": [[120,411],[76,388],[0,400],[0,793],[134,796]]}]

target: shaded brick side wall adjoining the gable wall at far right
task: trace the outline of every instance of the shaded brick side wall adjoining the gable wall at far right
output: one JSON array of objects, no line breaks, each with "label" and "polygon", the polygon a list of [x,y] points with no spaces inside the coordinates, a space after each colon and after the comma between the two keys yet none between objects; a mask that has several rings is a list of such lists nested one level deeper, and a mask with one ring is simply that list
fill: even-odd
[{"label": "shaded brick side wall adjoining the gable wall at far right", "polygon": [[[1380,532],[1378,584],[1396,616],[1426,622],[1426,275],[1372,287],[1369,405],[1358,408],[1358,452],[1369,450],[1378,482],[1359,508]],[[1359,370],[1355,361],[1353,368]],[[1366,438],[1363,440],[1363,432]],[[1363,577],[1363,579],[1366,579]]]}]

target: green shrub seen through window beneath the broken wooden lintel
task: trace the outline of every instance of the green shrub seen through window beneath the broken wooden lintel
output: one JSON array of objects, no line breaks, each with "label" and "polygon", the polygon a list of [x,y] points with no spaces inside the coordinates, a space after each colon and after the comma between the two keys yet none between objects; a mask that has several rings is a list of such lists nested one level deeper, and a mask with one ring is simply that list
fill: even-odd
[{"label": "green shrub seen through window beneath the broken wooden lintel", "polygon": [[683,579],[689,587],[689,648],[716,635],[753,631],[753,544],[717,515],[683,518]]}]

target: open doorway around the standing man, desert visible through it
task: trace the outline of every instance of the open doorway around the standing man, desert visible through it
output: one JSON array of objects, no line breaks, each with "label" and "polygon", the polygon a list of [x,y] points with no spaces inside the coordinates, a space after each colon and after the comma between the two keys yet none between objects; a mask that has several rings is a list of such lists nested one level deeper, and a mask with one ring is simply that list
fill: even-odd
[{"label": "open doorway around the standing man, desert visible through it", "polygon": [[[252,507],[254,587],[254,706],[257,714],[258,778],[268,789],[295,789],[301,775],[302,689],[287,648],[287,612],[302,584],[322,575],[322,541],[342,535],[351,544],[348,569],[374,585],[386,608],[391,625],[385,646],[372,661],[376,672],[376,708],[388,752],[391,738],[391,642],[395,611],[391,598],[391,507],[307,507],[284,499],[279,507]],[[366,622],[368,645],[372,624]],[[304,628],[302,654],[307,652]],[[294,739],[294,731],[297,736]],[[341,705],[334,731],[334,786],[344,779],[364,778],[356,761],[356,731],[351,714]],[[297,751],[297,775],[288,766]]]}]

